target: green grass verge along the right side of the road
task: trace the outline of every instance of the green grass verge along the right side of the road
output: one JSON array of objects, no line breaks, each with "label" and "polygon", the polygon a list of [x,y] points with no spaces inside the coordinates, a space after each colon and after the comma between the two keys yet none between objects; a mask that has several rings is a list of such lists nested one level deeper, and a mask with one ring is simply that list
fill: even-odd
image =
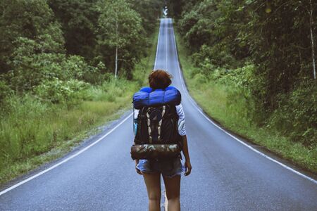
[{"label": "green grass verge along the right side of the road", "polygon": [[199,106],[214,120],[220,122],[225,128],[240,136],[249,139],[253,143],[264,146],[269,151],[290,160],[297,166],[309,172],[317,173],[317,146],[306,147],[301,143],[294,143],[278,133],[276,129],[259,127],[246,117],[247,103],[244,98],[236,98],[232,102],[228,99],[228,93],[232,87],[204,79],[201,75],[195,75],[196,70],[187,49],[179,34],[175,34],[178,41],[178,53],[182,71],[185,77],[189,93]]}]

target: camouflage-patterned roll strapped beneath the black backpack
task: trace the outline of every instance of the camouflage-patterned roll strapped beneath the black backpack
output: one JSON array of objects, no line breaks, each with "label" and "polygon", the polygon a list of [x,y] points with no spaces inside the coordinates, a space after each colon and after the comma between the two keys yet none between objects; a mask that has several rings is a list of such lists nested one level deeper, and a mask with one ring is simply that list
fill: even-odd
[{"label": "camouflage-patterned roll strapped beneath the black backpack", "polygon": [[178,144],[141,144],[131,146],[131,158],[156,159],[175,158],[180,155]]}]

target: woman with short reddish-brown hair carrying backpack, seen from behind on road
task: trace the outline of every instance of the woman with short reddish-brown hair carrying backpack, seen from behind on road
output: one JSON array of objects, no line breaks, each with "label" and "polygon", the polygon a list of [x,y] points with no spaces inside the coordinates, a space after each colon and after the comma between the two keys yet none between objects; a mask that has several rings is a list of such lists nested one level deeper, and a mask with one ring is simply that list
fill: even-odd
[{"label": "woman with short reddish-brown hair carrying backpack, seen from behind on road", "polygon": [[[149,75],[150,87],[141,89],[133,98],[137,125],[135,143],[146,146],[143,155],[147,155],[144,159],[136,159],[135,164],[147,186],[149,210],[160,210],[161,174],[166,186],[168,210],[180,210],[180,175],[187,176],[192,170],[180,91],[168,87],[170,79],[171,75],[164,70],[153,71]],[[173,131],[174,135],[167,135],[168,131]],[[182,149],[185,165],[180,160],[180,152],[174,153],[173,144]],[[155,148],[160,145],[168,147],[162,148],[164,153],[157,156],[160,153]]]}]

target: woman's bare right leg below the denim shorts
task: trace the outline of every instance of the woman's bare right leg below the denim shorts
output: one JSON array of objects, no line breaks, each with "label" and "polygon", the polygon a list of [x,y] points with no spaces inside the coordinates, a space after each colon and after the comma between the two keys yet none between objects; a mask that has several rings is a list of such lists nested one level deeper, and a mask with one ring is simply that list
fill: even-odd
[{"label": "woman's bare right leg below the denim shorts", "polygon": [[180,175],[172,178],[163,177],[166,197],[168,198],[168,211],[180,210]]}]

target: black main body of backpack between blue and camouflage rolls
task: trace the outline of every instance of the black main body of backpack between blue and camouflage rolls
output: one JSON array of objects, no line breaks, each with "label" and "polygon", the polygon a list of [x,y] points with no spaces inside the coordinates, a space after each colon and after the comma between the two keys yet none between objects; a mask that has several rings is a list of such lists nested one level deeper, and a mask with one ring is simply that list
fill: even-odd
[{"label": "black main body of backpack between blue and camouflage rolls", "polygon": [[[135,144],[178,144],[178,113],[175,106],[144,106],[137,117]],[[181,146],[180,146],[181,148]]]}]

